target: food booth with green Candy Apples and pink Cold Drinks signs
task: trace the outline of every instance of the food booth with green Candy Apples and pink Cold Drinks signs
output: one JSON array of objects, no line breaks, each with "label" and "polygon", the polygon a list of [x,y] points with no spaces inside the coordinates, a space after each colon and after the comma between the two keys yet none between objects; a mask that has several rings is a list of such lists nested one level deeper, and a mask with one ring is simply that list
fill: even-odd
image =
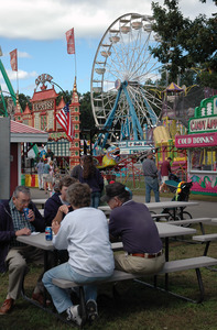
[{"label": "food booth with green Candy Apples and pink Cold Drinks signs", "polygon": [[217,195],[217,96],[204,99],[188,121],[188,134],[176,135],[175,146],[187,150],[187,180],[192,193]]}]

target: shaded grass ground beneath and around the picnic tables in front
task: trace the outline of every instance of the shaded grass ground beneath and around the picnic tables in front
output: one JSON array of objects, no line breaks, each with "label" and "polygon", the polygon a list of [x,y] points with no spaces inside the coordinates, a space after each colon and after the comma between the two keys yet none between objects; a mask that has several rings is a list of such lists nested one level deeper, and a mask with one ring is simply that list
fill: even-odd
[{"label": "shaded grass ground beneath and around the picnic tables in front", "polygon": [[[196,226],[195,228],[199,228]],[[205,226],[206,233],[216,228]],[[186,238],[189,240],[189,237]],[[204,244],[189,244],[172,241],[170,260],[203,255]],[[209,256],[217,257],[217,242],[209,246]],[[25,277],[25,289],[31,295],[34,283],[42,268],[31,267]],[[205,287],[205,301],[192,304],[172,297],[132,280],[118,284],[119,298],[112,297],[111,287],[100,287],[98,296],[99,319],[89,330],[216,330],[217,329],[217,273],[202,270]],[[147,278],[145,278],[147,279]],[[148,278],[152,279],[152,278]],[[159,284],[163,276],[159,277]],[[0,301],[7,294],[8,274],[0,275]],[[198,287],[195,271],[170,274],[170,289],[197,298]],[[106,295],[105,295],[106,294]],[[0,316],[2,330],[61,330],[69,327],[52,315],[47,315],[22,298],[18,299],[10,315]]]}]

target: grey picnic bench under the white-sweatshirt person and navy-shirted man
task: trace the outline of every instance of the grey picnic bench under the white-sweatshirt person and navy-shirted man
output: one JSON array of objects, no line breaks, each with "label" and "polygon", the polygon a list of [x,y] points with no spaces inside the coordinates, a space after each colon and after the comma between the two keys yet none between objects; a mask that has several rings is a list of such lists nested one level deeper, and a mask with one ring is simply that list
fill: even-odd
[{"label": "grey picnic bench under the white-sweatshirt person and navy-shirted man", "polygon": [[[166,293],[169,293],[175,297],[178,297],[181,299],[198,304],[204,300],[204,285],[203,285],[203,280],[202,280],[200,268],[206,267],[206,266],[213,266],[213,265],[217,265],[217,258],[208,257],[208,256],[197,256],[197,257],[165,262],[163,270],[161,272],[159,272],[158,274],[155,274],[155,276],[156,276],[156,275],[167,274],[167,273],[173,273],[173,272],[195,270],[196,275],[197,275],[198,288],[199,288],[199,298],[197,300],[193,300],[188,297],[170,292],[167,288],[158,287],[155,280],[154,280],[154,285],[152,285],[152,284],[143,282],[142,279],[139,279],[139,278],[143,278],[144,275],[130,274],[130,273],[116,271],[116,270],[111,277],[109,277],[105,280],[96,282],[95,284],[99,285],[99,284],[104,284],[104,283],[116,283],[116,282],[120,282],[120,280],[134,279],[134,280],[137,280],[141,284],[144,284],[149,287],[156,288],[156,289],[166,292]],[[79,283],[75,283],[73,280],[66,280],[66,279],[61,279],[61,278],[53,278],[52,282],[56,286],[64,288],[64,289],[79,287],[82,318],[83,318],[83,324],[84,324],[84,322],[86,321],[84,285],[88,285],[88,284],[79,284]]]}]

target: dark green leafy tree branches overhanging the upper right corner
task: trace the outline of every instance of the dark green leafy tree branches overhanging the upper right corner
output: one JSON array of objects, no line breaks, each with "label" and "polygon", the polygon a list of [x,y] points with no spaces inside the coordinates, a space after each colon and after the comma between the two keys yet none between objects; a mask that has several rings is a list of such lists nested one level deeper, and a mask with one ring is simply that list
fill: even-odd
[{"label": "dark green leafy tree branches overhanging the upper right corner", "polygon": [[152,10],[153,31],[160,35],[161,44],[150,47],[151,53],[170,72],[171,79],[196,68],[200,85],[217,88],[217,18],[184,18],[178,0],[165,0],[164,7],[152,2]]}]

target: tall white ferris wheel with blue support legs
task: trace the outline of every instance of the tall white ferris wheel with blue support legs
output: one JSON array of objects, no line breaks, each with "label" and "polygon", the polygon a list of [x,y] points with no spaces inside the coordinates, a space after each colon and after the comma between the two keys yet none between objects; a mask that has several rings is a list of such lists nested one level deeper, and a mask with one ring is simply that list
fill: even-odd
[{"label": "tall white ferris wheel with blue support legs", "polygon": [[[143,140],[145,127],[158,123],[162,101],[154,90],[162,64],[151,55],[160,37],[152,31],[153,18],[128,13],[104,34],[91,70],[91,108],[100,133],[96,144]],[[153,88],[152,88],[153,87]]]}]

